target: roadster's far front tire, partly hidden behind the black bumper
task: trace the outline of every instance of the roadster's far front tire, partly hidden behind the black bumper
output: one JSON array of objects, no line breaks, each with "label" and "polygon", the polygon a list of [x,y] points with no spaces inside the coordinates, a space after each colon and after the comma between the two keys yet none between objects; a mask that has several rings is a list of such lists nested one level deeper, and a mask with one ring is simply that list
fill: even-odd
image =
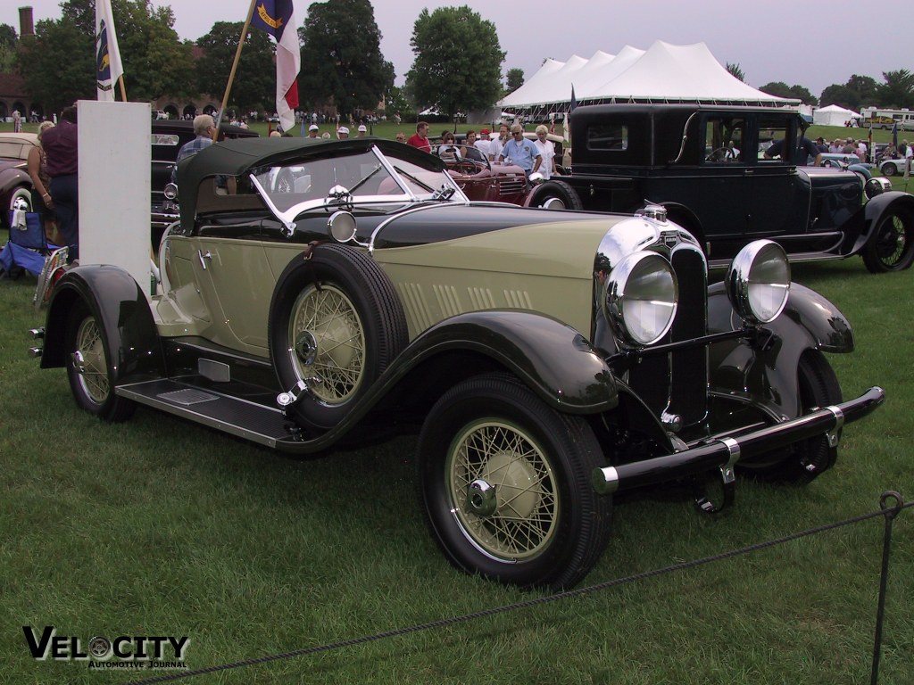
[{"label": "roadster's far front tire, partly hidden behind the black bumper", "polygon": [[[841,403],[841,385],[824,354],[818,350],[808,350],[800,357],[797,386],[801,414]],[[759,479],[805,485],[831,468],[837,455],[838,450],[829,445],[828,437],[817,436],[779,452],[778,456],[782,458],[774,463],[761,468],[748,465],[747,469]]]}]

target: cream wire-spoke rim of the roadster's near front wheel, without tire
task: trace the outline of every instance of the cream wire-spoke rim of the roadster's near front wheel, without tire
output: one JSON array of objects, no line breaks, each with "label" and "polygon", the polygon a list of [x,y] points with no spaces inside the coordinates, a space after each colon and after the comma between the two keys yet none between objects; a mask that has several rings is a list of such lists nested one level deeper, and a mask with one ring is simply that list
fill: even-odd
[{"label": "cream wire-spoke rim of the roadster's near front wheel, without tire", "polygon": [[[556,534],[559,497],[542,448],[523,430],[483,420],[454,442],[447,469],[452,511],[484,553],[524,559],[547,548]],[[473,483],[494,488],[494,511],[474,507]]]}]

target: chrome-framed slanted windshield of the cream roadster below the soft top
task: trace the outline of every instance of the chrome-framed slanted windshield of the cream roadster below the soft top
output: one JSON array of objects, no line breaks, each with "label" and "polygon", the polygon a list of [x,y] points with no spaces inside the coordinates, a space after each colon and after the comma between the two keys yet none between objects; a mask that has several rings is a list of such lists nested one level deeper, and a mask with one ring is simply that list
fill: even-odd
[{"label": "chrome-framed slanted windshield of the cream roadster below the soft top", "polygon": [[385,157],[377,148],[350,154],[328,151],[295,163],[261,167],[253,175],[262,194],[283,215],[324,206],[328,198],[340,195],[356,205],[440,199],[442,186],[454,189],[448,195],[452,200],[466,199],[449,174]]}]

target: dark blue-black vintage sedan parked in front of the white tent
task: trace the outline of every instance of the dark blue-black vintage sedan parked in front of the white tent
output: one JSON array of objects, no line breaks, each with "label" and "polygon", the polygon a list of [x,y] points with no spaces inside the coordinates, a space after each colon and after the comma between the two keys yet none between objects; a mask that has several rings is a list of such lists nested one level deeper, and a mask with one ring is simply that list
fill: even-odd
[{"label": "dark blue-black vintage sedan parked in front of the white tent", "polygon": [[588,210],[663,205],[715,267],[768,238],[796,261],[860,255],[870,271],[908,269],[914,196],[890,192],[883,178],[765,158],[772,141],[792,149],[800,128],[795,111],[762,107],[579,107],[567,187],[544,184],[530,204],[557,196],[571,206],[570,187]]}]

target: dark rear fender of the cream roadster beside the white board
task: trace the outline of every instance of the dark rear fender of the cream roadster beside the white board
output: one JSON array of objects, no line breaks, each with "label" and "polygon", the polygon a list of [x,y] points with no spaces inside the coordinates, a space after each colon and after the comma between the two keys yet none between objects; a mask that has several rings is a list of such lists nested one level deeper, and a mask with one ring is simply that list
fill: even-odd
[{"label": "dark rear fender of the cream roadster beside the white board", "polygon": [[165,362],[153,313],[143,290],[127,271],[108,265],[69,269],[48,305],[41,368],[66,365],[69,312],[83,301],[101,322],[118,377],[162,377]]}]

